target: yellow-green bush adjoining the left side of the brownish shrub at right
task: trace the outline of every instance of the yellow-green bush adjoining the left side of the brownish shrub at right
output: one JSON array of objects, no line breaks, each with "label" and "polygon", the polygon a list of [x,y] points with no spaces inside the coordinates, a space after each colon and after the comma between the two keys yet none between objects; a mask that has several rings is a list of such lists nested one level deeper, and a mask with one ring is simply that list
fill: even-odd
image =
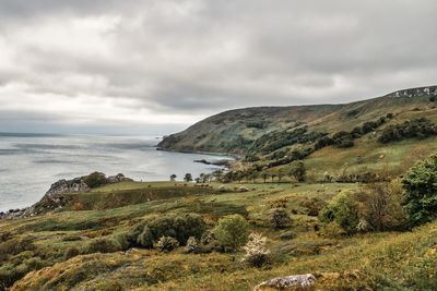
[{"label": "yellow-green bush adjoining the left side of the brownish shrub at right", "polygon": [[347,234],[355,233],[359,222],[358,204],[349,192],[341,192],[321,209],[320,220],[338,223]]}]

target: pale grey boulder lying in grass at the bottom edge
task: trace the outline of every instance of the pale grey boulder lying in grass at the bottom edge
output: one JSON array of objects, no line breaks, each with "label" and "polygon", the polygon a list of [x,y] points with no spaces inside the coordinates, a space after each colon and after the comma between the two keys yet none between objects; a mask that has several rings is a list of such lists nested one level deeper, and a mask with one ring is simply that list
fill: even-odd
[{"label": "pale grey boulder lying in grass at the bottom edge", "polygon": [[316,282],[316,277],[312,274],[277,277],[257,284],[253,288],[253,291],[263,289],[307,290],[315,282]]}]

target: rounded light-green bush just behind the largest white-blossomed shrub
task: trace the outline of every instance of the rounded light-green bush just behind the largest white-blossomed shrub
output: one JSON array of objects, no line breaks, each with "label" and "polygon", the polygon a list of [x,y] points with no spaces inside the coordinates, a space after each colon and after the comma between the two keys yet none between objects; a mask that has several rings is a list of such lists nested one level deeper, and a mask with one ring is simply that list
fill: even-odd
[{"label": "rounded light-green bush just behind the largest white-blossomed shrub", "polygon": [[221,245],[236,251],[247,241],[248,223],[240,215],[228,215],[218,220],[214,234]]}]

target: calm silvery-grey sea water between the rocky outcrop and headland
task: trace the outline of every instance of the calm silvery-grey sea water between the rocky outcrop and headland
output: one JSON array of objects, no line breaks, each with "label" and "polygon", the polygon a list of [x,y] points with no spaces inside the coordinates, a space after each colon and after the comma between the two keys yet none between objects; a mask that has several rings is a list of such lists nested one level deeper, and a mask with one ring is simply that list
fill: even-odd
[{"label": "calm silvery-grey sea water between the rocky outcrop and headland", "polygon": [[0,134],[0,211],[39,201],[60,179],[93,171],[143,181],[193,177],[218,167],[193,162],[222,156],[156,150],[154,137]]}]

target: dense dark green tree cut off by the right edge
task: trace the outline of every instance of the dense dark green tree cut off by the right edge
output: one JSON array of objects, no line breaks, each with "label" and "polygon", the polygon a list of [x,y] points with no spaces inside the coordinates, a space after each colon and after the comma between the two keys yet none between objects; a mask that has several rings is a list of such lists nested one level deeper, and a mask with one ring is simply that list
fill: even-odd
[{"label": "dense dark green tree cut off by the right edge", "polygon": [[404,209],[412,226],[437,218],[437,154],[417,162],[402,180]]}]

